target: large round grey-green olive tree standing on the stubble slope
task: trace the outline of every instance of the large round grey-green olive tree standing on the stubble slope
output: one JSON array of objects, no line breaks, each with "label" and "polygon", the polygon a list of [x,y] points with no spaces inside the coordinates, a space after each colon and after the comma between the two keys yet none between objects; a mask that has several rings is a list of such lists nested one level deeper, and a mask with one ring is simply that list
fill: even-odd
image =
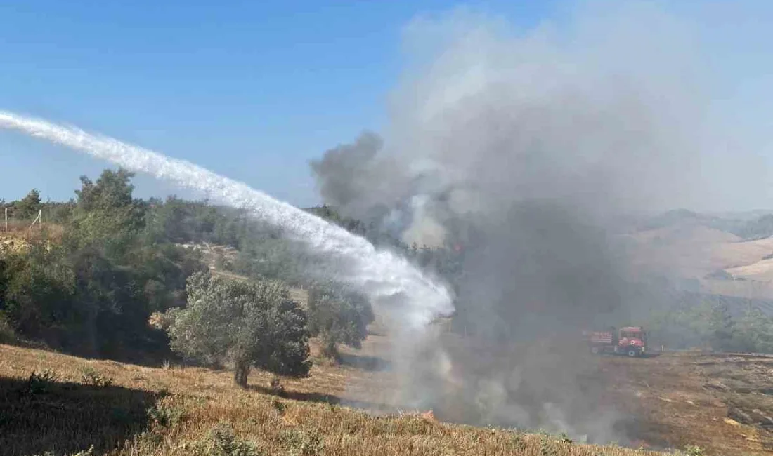
[{"label": "large round grey-green olive tree standing on the stubble slope", "polygon": [[305,377],[306,316],[276,282],[244,282],[198,272],[188,279],[188,306],[165,314],[172,350],[209,363],[233,363],[233,380],[247,386],[250,366]]}]

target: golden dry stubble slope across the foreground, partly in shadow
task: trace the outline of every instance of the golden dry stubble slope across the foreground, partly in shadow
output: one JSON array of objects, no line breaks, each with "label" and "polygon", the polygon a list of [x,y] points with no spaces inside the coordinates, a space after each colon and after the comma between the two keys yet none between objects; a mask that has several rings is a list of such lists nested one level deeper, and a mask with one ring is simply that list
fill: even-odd
[{"label": "golden dry stubble slope across the foreground, partly in shadow", "polygon": [[[46,370],[56,373],[56,381],[31,386],[29,374]],[[99,373],[113,383],[107,387],[84,384],[90,383],[83,376],[89,370],[91,378]],[[4,402],[0,449],[9,456],[44,450],[74,453],[91,444],[96,454],[116,456],[654,454],[572,444],[540,434],[442,424],[426,414],[374,417],[325,403],[328,394],[342,392],[352,370],[315,366],[311,378],[285,383],[288,396],[298,398],[294,400],[262,393],[260,385],[267,376],[256,373],[250,377],[253,387],[240,390],[225,371],[150,368],[0,346],[0,400]],[[212,437],[213,429],[223,423],[233,431],[236,443],[251,442],[254,451]],[[247,452],[238,453],[238,448]]]}]

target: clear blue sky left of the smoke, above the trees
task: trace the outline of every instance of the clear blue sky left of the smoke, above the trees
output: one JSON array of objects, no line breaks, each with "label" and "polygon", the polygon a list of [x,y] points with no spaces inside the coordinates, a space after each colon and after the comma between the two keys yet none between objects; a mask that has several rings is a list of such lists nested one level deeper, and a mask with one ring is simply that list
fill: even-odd
[{"label": "clear blue sky left of the smoke, above the trees", "polygon": [[[529,27],[560,3],[567,2],[465,5]],[[418,14],[455,5],[5,0],[0,109],[73,123],[294,204],[315,204],[308,160],[383,125],[385,96],[400,73],[402,28]],[[747,98],[761,103],[758,94]],[[104,167],[0,131],[0,198],[20,198],[32,187],[70,198],[80,174],[95,177]],[[141,196],[176,191],[149,178],[137,184]]]}]

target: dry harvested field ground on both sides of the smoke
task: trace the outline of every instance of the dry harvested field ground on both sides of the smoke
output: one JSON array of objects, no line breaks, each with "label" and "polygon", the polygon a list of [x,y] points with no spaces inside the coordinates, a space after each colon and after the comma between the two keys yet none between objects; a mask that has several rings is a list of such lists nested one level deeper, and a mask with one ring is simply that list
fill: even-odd
[{"label": "dry harvested field ground on both sides of the smoke", "polygon": [[[366,356],[379,343],[386,341],[371,336],[364,353],[349,353],[341,366],[316,363],[311,378],[284,382],[282,397],[270,394],[264,373],[253,372],[250,388],[240,390],[227,371],[84,360],[0,345],[0,452],[73,454],[93,444],[94,454],[121,456],[656,454],[442,424],[431,414],[375,417],[342,407],[366,397],[368,385],[388,381],[378,360]],[[694,354],[601,359],[616,380],[611,394],[633,417],[632,431],[642,442],[696,444],[706,454],[767,454],[771,434],[754,420],[773,410],[765,389],[773,378],[770,362]],[[751,421],[743,423],[744,416]]]}]

